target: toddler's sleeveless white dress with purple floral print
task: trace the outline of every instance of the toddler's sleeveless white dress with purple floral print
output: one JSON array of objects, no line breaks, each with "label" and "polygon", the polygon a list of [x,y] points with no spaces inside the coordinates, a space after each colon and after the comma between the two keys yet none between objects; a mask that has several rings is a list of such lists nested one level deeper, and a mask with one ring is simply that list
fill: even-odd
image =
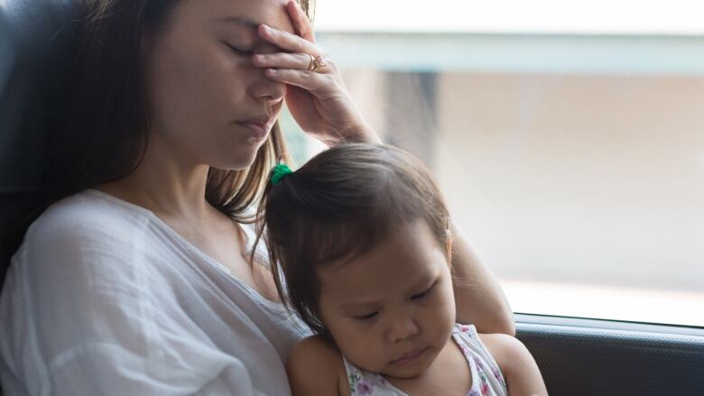
[{"label": "toddler's sleeveless white dress with purple floral print", "polygon": [[[477,328],[472,325],[455,325],[452,339],[467,358],[472,373],[472,389],[467,396],[506,396],[504,375],[482,344]],[[343,356],[350,396],[408,396],[378,373],[366,372],[351,364]]]}]

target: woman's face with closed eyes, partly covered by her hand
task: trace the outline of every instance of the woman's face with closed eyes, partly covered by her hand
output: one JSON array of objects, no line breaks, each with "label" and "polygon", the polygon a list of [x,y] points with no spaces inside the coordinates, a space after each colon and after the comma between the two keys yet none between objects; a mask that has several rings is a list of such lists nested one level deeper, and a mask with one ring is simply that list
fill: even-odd
[{"label": "woman's face with closed eyes, partly covered by her hand", "polygon": [[259,23],[293,32],[285,0],[181,0],[144,34],[150,144],[190,164],[248,167],[281,112],[286,86],[252,65],[278,51]]}]

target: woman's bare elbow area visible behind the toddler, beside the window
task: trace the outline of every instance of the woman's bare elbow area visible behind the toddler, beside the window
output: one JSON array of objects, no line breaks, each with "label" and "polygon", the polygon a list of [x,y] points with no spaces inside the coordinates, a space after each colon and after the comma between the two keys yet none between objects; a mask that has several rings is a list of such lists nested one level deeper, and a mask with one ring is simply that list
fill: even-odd
[{"label": "woman's bare elbow area visible behind the toddler, beside the window", "polygon": [[515,336],[514,317],[496,277],[457,226],[452,226],[452,270],[457,320],[479,333]]}]

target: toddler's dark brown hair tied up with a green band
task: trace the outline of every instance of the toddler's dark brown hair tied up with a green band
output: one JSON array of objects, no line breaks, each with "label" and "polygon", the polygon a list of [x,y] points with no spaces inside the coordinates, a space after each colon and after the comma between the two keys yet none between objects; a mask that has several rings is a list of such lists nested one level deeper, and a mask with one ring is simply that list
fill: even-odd
[{"label": "toddler's dark brown hair tied up with a green band", "polygon": [[279,295],[320,335],[327,330],[318,266],[353,259],[419,220],[443,249],[450,237],[448,209],[430,172],[383,144],[337,145],[268,183],[259,218],[257,240],[264,234]]}]

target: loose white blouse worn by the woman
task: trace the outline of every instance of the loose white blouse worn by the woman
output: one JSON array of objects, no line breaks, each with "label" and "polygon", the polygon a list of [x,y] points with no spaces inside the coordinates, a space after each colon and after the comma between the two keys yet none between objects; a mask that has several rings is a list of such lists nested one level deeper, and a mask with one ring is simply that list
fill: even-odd
[{"label": "loose white blouse worn by the woman", "polygon": [[149,210],[88,189],[13,257],[0,381],[7,395],[288,395],[283,362],[309,334]]}]

